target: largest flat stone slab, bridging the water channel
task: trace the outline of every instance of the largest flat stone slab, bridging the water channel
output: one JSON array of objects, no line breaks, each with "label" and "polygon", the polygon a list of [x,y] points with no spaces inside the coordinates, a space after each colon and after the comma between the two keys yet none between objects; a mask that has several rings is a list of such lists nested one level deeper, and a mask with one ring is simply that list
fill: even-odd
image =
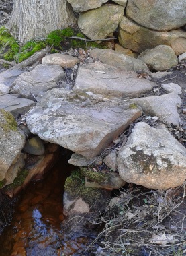
[{"label": "largest flat stone slab, bridging the water channel", "polygon": [[28,129],[86,158],[100,154],[142,111],[105,98],[52,89],[28,113]]}]

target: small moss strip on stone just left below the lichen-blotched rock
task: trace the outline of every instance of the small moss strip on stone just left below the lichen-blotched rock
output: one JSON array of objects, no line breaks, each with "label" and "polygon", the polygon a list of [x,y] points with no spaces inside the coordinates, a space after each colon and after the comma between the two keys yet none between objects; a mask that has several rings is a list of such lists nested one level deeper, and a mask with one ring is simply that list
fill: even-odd
[{"label": "small moss strip on stone just left below the lichen-blotched rock", "polygon": [[81,168],[81,173],[91,181],[95,181],[99,184],[107,182],[108,179],[107,174],[101,172],[93,172],[93,170],[89,170],[88,168]]}]

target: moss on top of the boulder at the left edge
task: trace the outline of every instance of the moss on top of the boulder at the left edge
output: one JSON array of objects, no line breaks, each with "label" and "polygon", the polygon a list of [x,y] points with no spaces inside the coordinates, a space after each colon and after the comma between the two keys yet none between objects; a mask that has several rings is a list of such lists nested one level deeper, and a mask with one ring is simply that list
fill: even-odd
[{"label": "moss on top of the boulder at the left edge", "polygon": [[4,109],[1,109],[0,113],[3,114],[3,119],[5,119],[5,121],[1,120],[1,129],[3,129],[4,131],[17,131],[17,122],[15,121],[13,115],[8,111],[5,111]]}]

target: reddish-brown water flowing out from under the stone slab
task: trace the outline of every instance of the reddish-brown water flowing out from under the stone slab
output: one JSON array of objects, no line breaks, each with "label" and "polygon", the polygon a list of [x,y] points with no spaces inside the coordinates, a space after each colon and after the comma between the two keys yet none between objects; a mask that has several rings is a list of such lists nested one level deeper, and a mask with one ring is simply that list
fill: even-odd
[{"label": "reddish-brown water flowing out from under the stone slab", "polygon": [[62,162],[22,191],[13,220],[0,237],[1,256],[85,255],[88,238],[66,238],[62,232],[62,194],[71,169]]}]

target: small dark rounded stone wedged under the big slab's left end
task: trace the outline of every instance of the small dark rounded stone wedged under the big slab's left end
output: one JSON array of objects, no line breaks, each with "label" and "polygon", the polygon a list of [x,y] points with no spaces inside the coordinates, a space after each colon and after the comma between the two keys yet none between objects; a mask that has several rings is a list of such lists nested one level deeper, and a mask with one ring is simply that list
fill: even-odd
[{"label": "small dark rounded stone wedged under the big slab's left end", "polygon": [[26,141],[23,150],[28,154],[40,156],[44,154],[44,143],[38,136],[35,136]]}]

